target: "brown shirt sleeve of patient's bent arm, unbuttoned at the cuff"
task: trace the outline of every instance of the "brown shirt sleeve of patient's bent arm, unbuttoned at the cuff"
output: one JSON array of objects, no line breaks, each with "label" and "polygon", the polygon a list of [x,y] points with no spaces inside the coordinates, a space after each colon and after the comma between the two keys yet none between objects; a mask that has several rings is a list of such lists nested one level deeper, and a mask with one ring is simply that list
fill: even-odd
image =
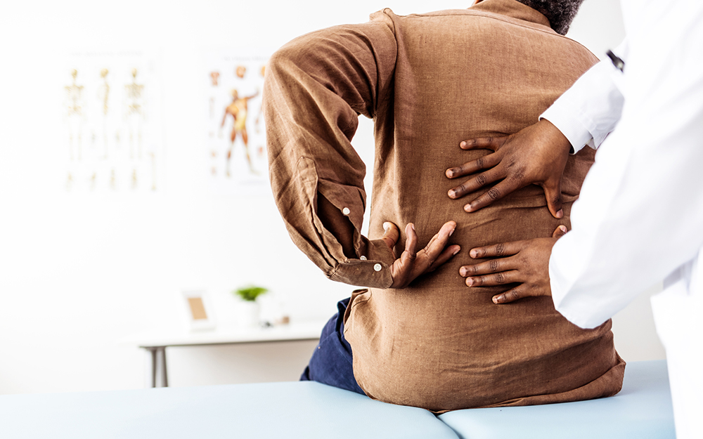
[{"label": "brown shirt sleeve of patient's bent arm, unbuttoned at the cuff", "polygon": [[[392,284],[395,257],[361,235],[366,167],[351,141],[359,114],[373,117],[392,94],[397,43],[384,17],[291,41],[271,57],[264,81],[269,177],[290,237],[330,279],[379,288]],[[322,216],[320,197],[349,236],[325,227],[335,218]],[[355,254],[341,242],[353,242]]]}]

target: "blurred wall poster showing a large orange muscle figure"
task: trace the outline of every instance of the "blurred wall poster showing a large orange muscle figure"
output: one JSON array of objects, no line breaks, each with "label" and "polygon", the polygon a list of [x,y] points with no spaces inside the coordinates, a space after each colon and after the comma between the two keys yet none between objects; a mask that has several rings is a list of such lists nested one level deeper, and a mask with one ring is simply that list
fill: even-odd
[{"label": "blurred wall poster showing a large orange muscle figure", "polygon": [[269,190],[262,91],[268,53],[211,51],[202,72],[207,90],[208,178],[216,192]]}]

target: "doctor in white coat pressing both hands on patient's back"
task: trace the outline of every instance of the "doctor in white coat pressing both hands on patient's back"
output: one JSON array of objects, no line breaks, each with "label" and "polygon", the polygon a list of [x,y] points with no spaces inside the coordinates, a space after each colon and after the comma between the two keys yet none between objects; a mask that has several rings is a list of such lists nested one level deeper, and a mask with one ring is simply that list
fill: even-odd
[{"label": "doctor in white coat pressing both hands on patient's back", "polygon": [[508,138],[463,142],[465,150],[494,152],[446,171],[474,174],[449,191],[455,199],[498,182],[467,212],[536,183],[560,218],[569,149],[600,146],[572,209],[572,231],[472,249],[472,258],[497,258],[463,266],[460,275],[469,287],[517,284],[495,303],[551,295],[584,328],[664,279],[652,308],[676,433],[703,438],[703,2],[621,5],[627,38],[612,61],[586,72],[537,124]]}]

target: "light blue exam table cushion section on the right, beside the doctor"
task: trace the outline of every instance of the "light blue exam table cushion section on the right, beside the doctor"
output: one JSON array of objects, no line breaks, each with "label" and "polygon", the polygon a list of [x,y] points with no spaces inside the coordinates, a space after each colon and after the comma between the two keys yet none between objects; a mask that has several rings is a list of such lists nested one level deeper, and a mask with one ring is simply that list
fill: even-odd
[{"label": "light blue exam table cushion section on the right, beside the doctor", "polygon": [[457,410],[439,419],[462,439],[676,438],[666,360],[628,363],[612,398]]}]

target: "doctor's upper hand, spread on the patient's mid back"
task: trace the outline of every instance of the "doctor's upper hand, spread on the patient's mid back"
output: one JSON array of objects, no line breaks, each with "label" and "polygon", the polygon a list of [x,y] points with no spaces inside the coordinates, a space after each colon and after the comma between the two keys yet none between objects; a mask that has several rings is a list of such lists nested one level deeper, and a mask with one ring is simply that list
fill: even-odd
[{"label": "doctor's upper hand, spread on the patient's mid back", "polygon": [[551,122],[541,119],[512,136],[477,138],[460,143],[463,150],[492,150],[473,162],[446,170],[448,178],[479,173],[449,190],[449,198],[457,199],[498,180],[500,183],[464,206],[467,212],[486,207],[496,199],[524,188],[530,183],[540,185],[547,198],[547,207],[555,218],[562,218],[561,181],[569,158],[569,140]]}]

